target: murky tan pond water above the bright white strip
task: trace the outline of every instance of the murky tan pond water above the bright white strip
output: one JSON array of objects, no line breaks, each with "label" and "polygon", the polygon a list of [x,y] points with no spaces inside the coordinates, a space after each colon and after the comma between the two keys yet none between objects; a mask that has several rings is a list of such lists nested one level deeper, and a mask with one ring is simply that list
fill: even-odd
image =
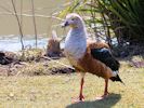
[{"label": "murky tan pond water above the bright white strip", "polygon": [[[22,21],[23,25],[23,33],[35,35],[34,21],[31,16],[31,0],[14,1],[18,14],[21,14],[21,1],[23,1],[23,18],[19,17],[19,21]],[[51,18],[49,16],[52,16],[52,14],[61,11],[64,8],[63,4],[68,1],[69,0],[34,0],[38,35],[48,33],[48,36],[50,36],[52,29],[58,30],[58,28],[61,28],[54,26],[60,24],[61,21]],[[13,12],[11,0],[0,0],[0,36],[19,35],[17,21],[15,16],[11,14],[11,11]],[[61,30],[58,30],[58,33],[61,33]]]}]

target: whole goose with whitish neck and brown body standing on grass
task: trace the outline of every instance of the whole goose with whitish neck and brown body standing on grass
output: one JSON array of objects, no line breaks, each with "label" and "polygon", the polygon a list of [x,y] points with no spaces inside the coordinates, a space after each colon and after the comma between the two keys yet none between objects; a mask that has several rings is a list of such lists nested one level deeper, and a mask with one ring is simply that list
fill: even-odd
[{"label": "whole goose with whitish neck and brown body standing on grass", "polygon": [[101,99],[106,97],[108,95],[108,79],[122,82],[118,76],[120,64],[113,56],[106,43],[87,41],[88,33],[84,22],[78,14],[68,14],[63,26],[70,26],[65,40],[65,55],[76,70],[81,73],[79,100],[84,99],[82,86],[86,72],[105,79],[104,95]]}]

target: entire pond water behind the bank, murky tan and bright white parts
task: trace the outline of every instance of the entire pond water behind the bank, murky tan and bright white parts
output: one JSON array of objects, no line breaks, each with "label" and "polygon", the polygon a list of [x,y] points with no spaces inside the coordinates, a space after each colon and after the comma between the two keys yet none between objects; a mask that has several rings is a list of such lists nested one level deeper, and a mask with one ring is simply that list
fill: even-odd
[{"label": "entire pond water behind the bank, murky tan and bright white parts", "polygon": [[[21,13],[21,0],[14,0],[16,4],[16,11]],[[68,0],[69,1],[69,0]],[[34,0],[35,3],[35,15],[37,24],[37,33],[45,35],[51,37],[52,30],[56,30],[58,36],[63,35],[63,30],[60,26],[53,26],[61,23],[55,18],[47,18],[43,16],[51,16],[53,13],[58,12],[64,6],[63,4],[68,2],[67,0]],[[11,0],[0,0],[0,51],[12,51],[16,52],[22,49],[18,39],[18,26],[14,15],[10,12],[13,11]],[[23,18],[19,17],[23,25],[23,33],[26,35],[24,38],[24,45],[26,48],[35,48],[35,35],[34,22],[31,15],[31,2],[30,0],[23,0]],[[48,37],[38,37],[38,48],[45,49]]]}]

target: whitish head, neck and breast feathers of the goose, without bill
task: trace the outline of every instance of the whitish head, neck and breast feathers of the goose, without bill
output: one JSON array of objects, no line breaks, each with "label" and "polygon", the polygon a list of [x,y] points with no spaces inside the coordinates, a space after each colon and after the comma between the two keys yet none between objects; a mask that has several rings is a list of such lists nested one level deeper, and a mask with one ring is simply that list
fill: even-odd
[{"label": "whitish head, neck and breast feathers of the goose, without bill", "polygon": [[[71,21],[74,17],[77,17],[76,22]],[[83,57],[86,53],[88,35],[84,23],[78,14],[68,14],[66,22],[69,25],[75,25],[75,27],[71,27],[67,33],[64,52],[70,64],[77,66],[77,60]]]}]

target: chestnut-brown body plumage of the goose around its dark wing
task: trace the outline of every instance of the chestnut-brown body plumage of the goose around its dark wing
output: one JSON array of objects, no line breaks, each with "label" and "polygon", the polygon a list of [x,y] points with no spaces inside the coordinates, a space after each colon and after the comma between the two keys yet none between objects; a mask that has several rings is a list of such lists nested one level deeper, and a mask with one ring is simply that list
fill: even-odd
[{"label": "chestnut-brown body plumage of the goose around its dark wing", "polygon": [[[77,63],[78,67],[81,67],[80,71],[90,72],[102,77],[104,79],[109,79],[113,77],[112,70],[104,65],[102,62],[94,59],[91,55],[91,49],[101,49],[101,48],[109,48],[106,43],[103,42],[89,42],[87,44],[87,51],[82,58],[80,58]],[[77,67],[76,67],[77,68]]]}]

